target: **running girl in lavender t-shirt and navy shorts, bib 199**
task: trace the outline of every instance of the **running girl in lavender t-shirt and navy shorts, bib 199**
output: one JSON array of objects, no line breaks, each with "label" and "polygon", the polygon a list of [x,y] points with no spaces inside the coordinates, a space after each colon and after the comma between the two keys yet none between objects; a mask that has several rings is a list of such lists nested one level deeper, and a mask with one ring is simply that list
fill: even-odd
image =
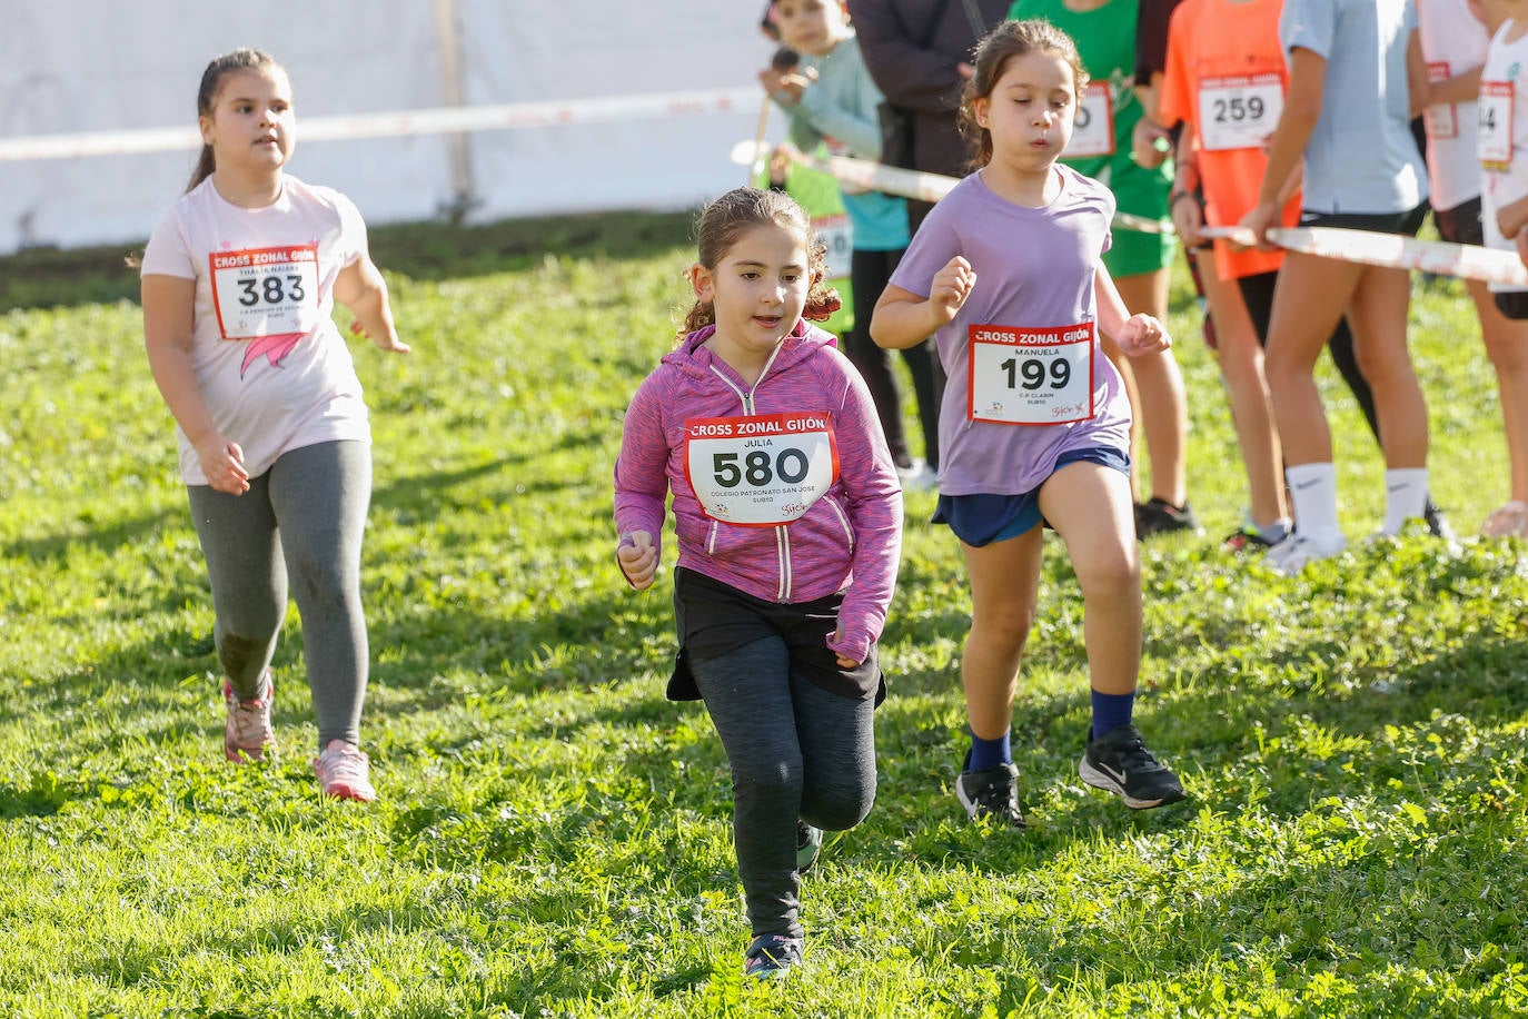
[{"label": "running girl in lavender t-shirt and navy shorts, bib 199", "polygon": [[1093,727],[1077,767],[1128,807],[1183,799],[1132,724],[1141,587],[1129,486],[1129,402],[1099,332],[1132,356],[1170,341],[1129,315],[1102,266],[1114,197],[1057,157],[1086,73],[1047,21],[1005,21],[976,50],[963,124],[978,173],[918,228],[871,333],[886,347],[931,333],[952,385],[940,431],[937,522],[970,573],[961,660],[972,747],[955,793],[973,819],[1022,827],[1010,750],[1019,658],[1034,623],[1042,522],[1067,542],[1085,607]]}]

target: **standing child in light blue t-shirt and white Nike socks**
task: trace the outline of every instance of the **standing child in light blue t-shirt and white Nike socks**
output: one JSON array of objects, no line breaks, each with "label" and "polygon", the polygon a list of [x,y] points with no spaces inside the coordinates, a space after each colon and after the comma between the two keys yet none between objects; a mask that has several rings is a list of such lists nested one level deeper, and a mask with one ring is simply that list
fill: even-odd
[{"label": "standing child in light blue t-shirt and white Nike socks", "polygon": [[[1427,170],[1410,131],[1406,50],[1410,0],[1285,0],[1279,43],[1288,92],[1268,142],[1258,205],[1241,225],[1267,251],[1291,177],[1303,165],[1300,226],[1415,235]],[[1346,313],[1374,391],[1384,452],[1381,535],[1427,510],[1427,405],[1406,345],[1410,273],[1287,252],[1268,324],[1265,370],[1284,442],[1294,533],[1268,550],[1287,574],[1348,547],[1337,519],[1337,469],[1316,359]]]}]

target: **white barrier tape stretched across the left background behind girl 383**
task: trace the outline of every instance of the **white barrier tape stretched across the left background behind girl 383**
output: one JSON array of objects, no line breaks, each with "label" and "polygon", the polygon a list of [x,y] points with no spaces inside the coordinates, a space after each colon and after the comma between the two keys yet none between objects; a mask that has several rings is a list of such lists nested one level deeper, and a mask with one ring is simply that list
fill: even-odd
[{"label": "white barrier tape stretched across the left background behind girl 383", "polygon": [[[504,105],[439,107],[391,113],[315,116],[298,121],[298,141],[333,142],[356,137],[394,137],[400,134],[457,134],[503,131],[524,127],[564,124],[607,124],[703,113],[753,110],[759,92],[660,92],[640,96],[565,99],[561,102],[516,102]],[[138,131],[93,131],[83,134],[24,134],[0,137],[0,162],[23,159],[73,159],[79,156],[121,156],[191,150],[202,144],[194,127],[159,127]]]}]

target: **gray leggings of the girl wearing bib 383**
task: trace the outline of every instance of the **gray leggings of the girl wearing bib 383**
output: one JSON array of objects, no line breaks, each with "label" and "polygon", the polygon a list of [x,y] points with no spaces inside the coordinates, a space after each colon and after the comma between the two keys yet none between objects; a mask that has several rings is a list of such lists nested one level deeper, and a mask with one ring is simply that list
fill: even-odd
[{"label": "gray leggings of the girl wearing bib 383", "polygon": [[186,490],[212,582],[212,639],[234,692],[260,694],[290,576],[318,746],[359,742],[368,654],[361,535],[371,501],[371,446],[329,442],[292,449],[237,497],[206,484]]}]

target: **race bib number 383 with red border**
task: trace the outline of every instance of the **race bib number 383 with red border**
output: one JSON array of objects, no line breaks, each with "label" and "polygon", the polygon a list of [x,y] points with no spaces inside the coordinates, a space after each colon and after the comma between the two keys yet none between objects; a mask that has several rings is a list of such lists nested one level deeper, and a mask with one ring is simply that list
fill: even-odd
[{"label": "race bib number 383 with red border", "polygon": [[316,327],[316,246],[223,251],[208,260],[223,339],[309,333]]}]

